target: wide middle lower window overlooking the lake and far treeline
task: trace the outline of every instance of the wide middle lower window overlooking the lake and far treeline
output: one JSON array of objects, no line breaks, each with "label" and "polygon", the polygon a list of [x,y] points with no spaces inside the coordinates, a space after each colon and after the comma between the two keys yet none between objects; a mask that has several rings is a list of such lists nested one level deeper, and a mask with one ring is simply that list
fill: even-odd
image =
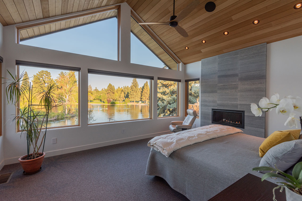
[{"label": "wide middle lower window overlooking the lake and far treeline", "polygon": [[88,70],[88,124],[151,118],[152,82],[153,77]]}]

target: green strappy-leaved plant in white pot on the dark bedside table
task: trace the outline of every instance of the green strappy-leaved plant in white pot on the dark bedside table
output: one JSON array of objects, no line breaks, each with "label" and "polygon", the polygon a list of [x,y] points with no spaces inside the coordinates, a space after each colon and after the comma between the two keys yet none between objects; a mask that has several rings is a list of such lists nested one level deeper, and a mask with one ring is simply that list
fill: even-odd
[{"label": "green strappy-leaved plant in white pot on the dark bedside table", "polygon": [[294,166],[293,175],[284,173],[283,171],[279,170],[276,166],[275,168],[267,167],[267,166],[256,167],[253,168],[253,171],[270,171],[262,176],[261,181],[265,180],[268,177],[279,177],[285,181],[285,182],[278,182],[280,185],[273,189],[274,201],[277,201],[275,197],[275,190],[280,187],[281,187],[280,190],[281,192],[285,187],[287,201],[302,200],[302,162],[298,162]]}]

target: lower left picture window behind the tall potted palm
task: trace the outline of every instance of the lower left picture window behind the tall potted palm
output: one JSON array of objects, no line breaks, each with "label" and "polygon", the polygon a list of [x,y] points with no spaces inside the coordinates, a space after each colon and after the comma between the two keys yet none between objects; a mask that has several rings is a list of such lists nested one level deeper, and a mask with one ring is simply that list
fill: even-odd
[{"label": "lower left picture window behind the tall potted palm", "polygon": [[[49,114],[47,128],[79,125],[79,73],[78,68],[53,66],[30,62],[16,62],[19,74],[24,74],[22,86],[33,86],[31,104],[39,105],[39,96],[36,96],[49,84],[55,84],[54,97],[60,106],[54,107]],[[29,79],[26,79],[29,78]],[[21,98],[19,108],[28,104],[26,98]],[[39,107],[39,106],[36,106]],[[43,109],[40,110],[43,114]],[[44,125],[45,126],[45,125]],[[19,128],[18,128],[19,131]]]}]

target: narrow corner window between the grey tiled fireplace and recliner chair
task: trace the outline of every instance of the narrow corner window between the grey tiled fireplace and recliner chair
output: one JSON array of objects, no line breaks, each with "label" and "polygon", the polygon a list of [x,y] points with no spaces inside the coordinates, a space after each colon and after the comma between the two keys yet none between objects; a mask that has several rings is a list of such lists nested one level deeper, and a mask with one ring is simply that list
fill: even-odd
[{"label": "narrow corner window between the grey tiled fireplace and recliner chair", "polygon": [[199,78],[185,80],[186,83],[186,111],[187,109],[194,109],[199,117]]}]

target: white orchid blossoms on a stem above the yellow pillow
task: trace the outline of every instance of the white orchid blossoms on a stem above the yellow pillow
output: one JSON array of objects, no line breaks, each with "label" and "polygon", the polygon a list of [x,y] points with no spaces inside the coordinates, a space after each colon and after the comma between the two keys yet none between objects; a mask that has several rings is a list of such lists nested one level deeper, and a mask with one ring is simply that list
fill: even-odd
[{"label": "white orchid blossoms on a stem above the yellow pillow", "polygon": [[[252,113],[258,117],[262,115],[262,111],[271,111],[273,108],[276,108],[276,113],[289,116],[285,121],[284,125],[298,128],[297,120],[300,121],[301,129],[302,129],[302,98],[299,96],[285,96],[280,100],[279,94],[275,93],[275,95],[271,96],[271,99],[263,97],[259,101],[258,105],[255,103],[251,103],[251,111]],[[300,113],[300,119],[295,118],[296,113]]]}]

